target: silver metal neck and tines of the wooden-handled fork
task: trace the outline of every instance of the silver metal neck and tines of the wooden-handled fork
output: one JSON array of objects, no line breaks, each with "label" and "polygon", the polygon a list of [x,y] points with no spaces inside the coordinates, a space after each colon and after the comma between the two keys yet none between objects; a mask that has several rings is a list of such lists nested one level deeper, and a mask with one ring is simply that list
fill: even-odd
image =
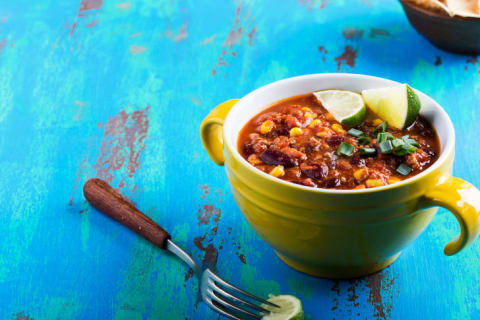
[{"label": "silver metal neck and tines of the wooden-handled fork", "polygon": [[236,320],[262,319],[270,311],[259,304],[279,308],[223,280],[210,269],[202,273],[195,260],[173,241],[168,240],[167,249],[185,261],[197,275],[201,275],[199,279],[202,300],[218,313]]}]

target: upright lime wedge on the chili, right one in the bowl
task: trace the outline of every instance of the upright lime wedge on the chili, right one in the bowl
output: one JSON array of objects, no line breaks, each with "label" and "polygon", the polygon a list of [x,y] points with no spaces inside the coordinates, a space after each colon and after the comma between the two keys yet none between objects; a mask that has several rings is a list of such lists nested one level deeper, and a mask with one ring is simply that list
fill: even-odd
[{"label": "upright lime wedge on the chili, right one in the bowl", "polygon": [[417,118],[420,99],[408,85],[362,91],[367,106],[390,127],[405,129]]}]

